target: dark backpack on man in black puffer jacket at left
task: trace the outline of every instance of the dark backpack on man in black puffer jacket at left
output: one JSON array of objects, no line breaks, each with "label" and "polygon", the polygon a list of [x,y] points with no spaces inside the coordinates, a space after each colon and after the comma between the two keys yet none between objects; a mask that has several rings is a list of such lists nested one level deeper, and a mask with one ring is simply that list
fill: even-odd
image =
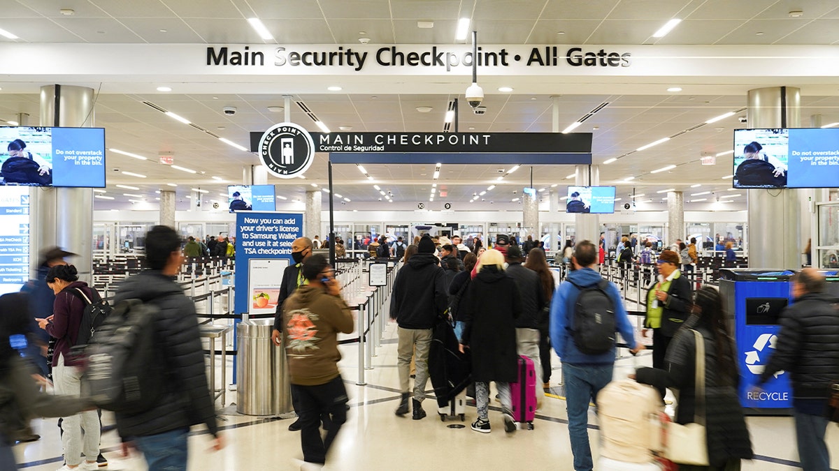
[{"label": "dark backpack on man in black puffer jacket at left", "polygon": [[139,299],[118,303],[87,345],[82,397],[108,411],[136,414],[156,406],[165,375],[154,321],[159,308]]}]

